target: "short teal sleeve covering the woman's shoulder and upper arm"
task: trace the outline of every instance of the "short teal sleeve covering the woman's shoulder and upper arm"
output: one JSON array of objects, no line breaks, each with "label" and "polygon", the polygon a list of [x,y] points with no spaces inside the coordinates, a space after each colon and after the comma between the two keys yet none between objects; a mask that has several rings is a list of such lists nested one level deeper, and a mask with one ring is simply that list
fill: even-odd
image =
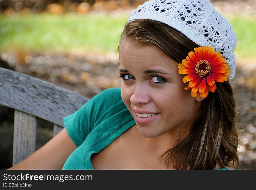
[{"label": "short teal sleeve covering the woman's shoulder and upper arm", "polygon": [[113,109],[113,103],[120,101],[121,89],[109,88],[94,96],[76,112],[63,118],[65,129],[77,147],[97,124],[106,119],[104,117],[108,117],[105,113]]}]

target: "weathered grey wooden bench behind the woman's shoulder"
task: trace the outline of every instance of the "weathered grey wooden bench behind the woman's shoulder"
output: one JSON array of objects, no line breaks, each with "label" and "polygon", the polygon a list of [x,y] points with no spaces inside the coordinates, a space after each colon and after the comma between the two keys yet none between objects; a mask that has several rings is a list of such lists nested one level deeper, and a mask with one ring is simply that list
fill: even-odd
[{"label": "weathered grey wooden bench behind the woman's shoulder", "polygon": [[36,117],[54,123],[53,136],[64,127],[63,117],[83,106],[89,98],[49,82],[0,68],[0,105],[13,108],[13,165],[36,147]]}]

